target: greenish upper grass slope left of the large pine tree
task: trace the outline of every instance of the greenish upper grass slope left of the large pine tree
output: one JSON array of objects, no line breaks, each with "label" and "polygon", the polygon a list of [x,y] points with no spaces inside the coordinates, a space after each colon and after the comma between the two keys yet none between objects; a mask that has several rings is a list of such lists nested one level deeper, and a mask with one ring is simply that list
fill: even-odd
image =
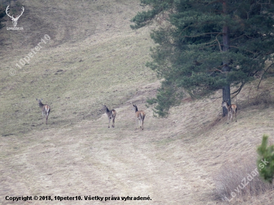
[{"label": "greenish upper grass slope left of the large pine tree", "polygon": [[[155,81],[155,75],[144,67],[152,45],[148,29],[136,32],[129,27],[133,10],[138,9],[137,1],[83,1],[76,7],[70,2],[47,1],[43,9],[38,9],[39,1],[25,3],[25,16],[18,21],[24,30],[1,30],[1,36],[8,38],[0,59],[3,136],[45,128],[36,98],[51,105],[51,127],[60,127],[96,119],[102,103],[117,107],[140,86]],[[51,5],[58,7],[53,9]],[[29,22],[33,14],[30,10],[40,13],[35,19],[46,19],[50,26]],[[51,40],[41,44],[43,48],[28,65],[17,68],[16,63],[45,34]],[[9,69],[15,69],[16,74],[10,76]]]}]

